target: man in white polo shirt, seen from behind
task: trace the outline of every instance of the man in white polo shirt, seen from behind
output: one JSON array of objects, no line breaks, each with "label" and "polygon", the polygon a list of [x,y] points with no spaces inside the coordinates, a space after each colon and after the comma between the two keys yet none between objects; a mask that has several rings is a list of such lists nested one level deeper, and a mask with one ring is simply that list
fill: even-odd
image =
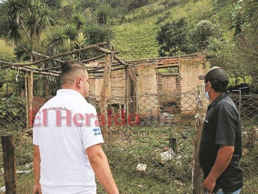
[{"label": "man in white polo shirt, seen from behind", "polygon": [[61,66],[61,90],[39,110],[33,126],[33,194],[96,194],[95,176],[108,194],[118,194],[101,144],[84,64]]}]

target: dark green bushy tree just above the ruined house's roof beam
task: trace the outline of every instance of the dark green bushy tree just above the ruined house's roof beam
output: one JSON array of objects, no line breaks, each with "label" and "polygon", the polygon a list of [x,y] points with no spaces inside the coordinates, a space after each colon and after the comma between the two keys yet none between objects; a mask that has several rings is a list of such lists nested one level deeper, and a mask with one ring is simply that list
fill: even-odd
[{"label": "dark green bushy tree just above the ruined house's roof beam", "polygon": [[160,56],[175,56],[179,53],[192,52],[184,17],[162,24],[156,39],[160,46]]}]

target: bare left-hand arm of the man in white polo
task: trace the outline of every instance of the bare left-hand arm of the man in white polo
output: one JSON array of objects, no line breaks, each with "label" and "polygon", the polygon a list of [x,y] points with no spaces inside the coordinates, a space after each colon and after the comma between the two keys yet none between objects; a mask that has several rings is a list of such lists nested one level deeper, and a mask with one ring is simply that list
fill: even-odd
[{"label": "bare left-hand arm of the man in white polo", "polygon": [[33,159],[33,171],[34,171],[34,189],[33,189],[33,194],[42,194],[41,193],[41,186],[39,183],[40,179],[40,153],[39,153],[39,146],[34,145],[34,159]]}]

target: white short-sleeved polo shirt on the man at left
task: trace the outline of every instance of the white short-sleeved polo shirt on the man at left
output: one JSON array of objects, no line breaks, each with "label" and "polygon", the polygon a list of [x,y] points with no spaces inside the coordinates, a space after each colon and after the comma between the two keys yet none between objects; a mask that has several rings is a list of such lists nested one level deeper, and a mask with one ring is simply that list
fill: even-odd
[{"label": "white short-sleeved polo shirt on the man at left", "polygon": [[75,90],[61,89],[37,113],[33,144],[41,157],[43,194],[96,194],[85,149],[104,143],[95,108]]}]

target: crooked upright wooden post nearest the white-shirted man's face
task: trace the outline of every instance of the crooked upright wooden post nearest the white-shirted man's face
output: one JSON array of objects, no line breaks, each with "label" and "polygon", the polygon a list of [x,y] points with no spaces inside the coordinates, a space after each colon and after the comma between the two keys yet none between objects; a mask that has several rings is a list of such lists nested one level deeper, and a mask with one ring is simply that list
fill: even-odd
[{"label": "crooked upright wooden post nearest the white-shirted man's face", "polygon": [[111,73],[111,57],[110,55],[106,54],[105,56],[105,70],[104,70],[104,78],[103,78],[103,84],[101,88],[101,95],[100,95],[100,107],[101,107],[101,113],[104,115],[105,118],[105,124],[104,124],[104,135],[108,133],[107,128],[107,104],[106,104],[106,97],[107,97],[107,91],[108,91],[108,84],[109,84],[109,77]]}]

